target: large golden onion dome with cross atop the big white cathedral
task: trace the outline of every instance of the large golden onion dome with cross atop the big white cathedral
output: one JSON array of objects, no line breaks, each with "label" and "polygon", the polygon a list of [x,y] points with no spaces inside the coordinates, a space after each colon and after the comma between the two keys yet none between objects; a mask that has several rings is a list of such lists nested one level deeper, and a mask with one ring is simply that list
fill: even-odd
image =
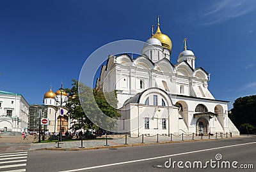
[{"label": "large golden onion dome with cross atop the big white cathedral", "polygon": [[161,41],[161,43],[162,43],[162,47],[163,48],[167,48],[170,51],[172,51],[172,41],[171,41],[171,39],[169,38],[169,36],[167,36],[166,34],[163,34],[160,31],[159,16],[157,16],[157,29],[156,29],[156,33],[152,37],[159,39],[159,41]]}]

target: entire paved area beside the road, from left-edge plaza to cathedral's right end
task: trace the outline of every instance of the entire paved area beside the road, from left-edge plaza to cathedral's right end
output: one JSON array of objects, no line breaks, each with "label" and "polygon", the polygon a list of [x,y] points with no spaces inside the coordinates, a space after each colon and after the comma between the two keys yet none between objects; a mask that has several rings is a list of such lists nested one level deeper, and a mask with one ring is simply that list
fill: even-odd
[{"label": "entire paved area beside the road, from left-edge plaza to cathedral's right end", "polygon": [[[111,136],[108,136],[108,138]],[[172,136],[171,138],[168,136],[142,136],[131,138],[127,136],[127,145],[125,145],[125,136],[112,136],[113,139],[108,139],[108,146],[106,146],[105,136],[102,136],[103,140],[83,140],[83,147],[81,148],[81,140],[78,141],[63,141],[59,147],[55,142],[51,143],[34,143],[33,136],[28,136],[28,140],[22,140],[21,136],[2,136],[0,138],[0,152],[15,152],[21,150],[92,150],[92,149],[100,149],[100,148],[117,148],[117,147],[134,147],[139,145],[153,145],[153,144],[164,144],[164,143],[175,143],[175,142],[184,142],[184,141],[205,141],[209,140],[209,136],[194,136],[194,140],[192,140],[193,136],[184,136],[182,140],[182,136]],[[237,137],[237,136],[236,136]],[[217,140],[220,139],[230,139],[230,136],[226,138],[223,135],[218,136]],[[216,136],[211,136],[210,140],[216,140]],[[37,140],[36,140],[37,141]],[[143,141],[143,143],[142,143]]]}]

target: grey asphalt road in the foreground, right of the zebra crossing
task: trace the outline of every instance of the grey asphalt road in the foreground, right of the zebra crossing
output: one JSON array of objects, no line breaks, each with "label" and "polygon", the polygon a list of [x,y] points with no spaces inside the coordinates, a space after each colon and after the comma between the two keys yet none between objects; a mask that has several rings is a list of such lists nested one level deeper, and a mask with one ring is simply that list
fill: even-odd
[{"label": "grey asphalt road in the foreground, right of the zebra crossing", "polygon": [[[222,159],[216,160],[221,154]],[[164,163],[182,161],[184,169],[173,166],[164,168]],[[216,161],[216,168],[210,162]],[[189,162],[191,168],[189,169]],[[195,161],[202,161],[204,169],[193,168]],[[230,162],[230,169],[221,168],[223,161]],[[237,169],[232,162],[237,161]],[[187,167],[185,166],[187,163]],[[220,168],[218,168],[220,163]],[[241,164],[253,165],[254,169],[239,169]],[[166,164],[168,165],[168,163]],[[195,166],[197,166],[195,164]],[[212,164],[214,166],[214,163]],[[250,167],[252,168],[252,167]],[[195,141],[165,145],[148,145],[117,149],[86,150],[79,152],[29,151],[26,171],[255,171],[256,136],[217,141]]]}]

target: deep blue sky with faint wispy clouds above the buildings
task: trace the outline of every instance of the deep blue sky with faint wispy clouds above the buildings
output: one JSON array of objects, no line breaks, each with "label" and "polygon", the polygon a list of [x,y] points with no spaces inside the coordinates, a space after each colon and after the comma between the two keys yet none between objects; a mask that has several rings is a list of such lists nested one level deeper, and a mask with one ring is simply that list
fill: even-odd
[{"label": "deep blue sky with faint wispy clouds above the buildings", "polygon": [[196,67],[211,73],[209,90],[230,101],[256,91],[256,1],[0,1],[0,90],[42,103],[71,87],[86,58],[120,39],[145,41],[161,15],[177,63],[182,40]]}]

